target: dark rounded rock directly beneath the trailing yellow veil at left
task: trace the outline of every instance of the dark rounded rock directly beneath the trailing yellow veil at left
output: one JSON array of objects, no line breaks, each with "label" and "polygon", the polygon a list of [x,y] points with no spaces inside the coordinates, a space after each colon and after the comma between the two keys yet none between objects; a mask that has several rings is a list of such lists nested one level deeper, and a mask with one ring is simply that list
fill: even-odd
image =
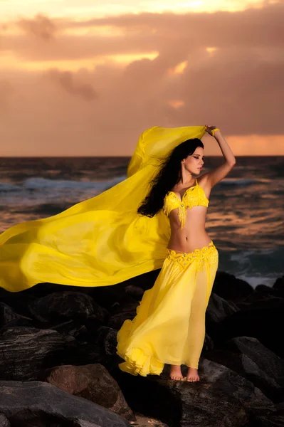
[{"label": "dark rounded rock directly beneath the trailing yellow veil at left", "polygon": [[81,292],[53,292],[33,301],[29,306],[32,317],[39,322],[95,319],[103,322],[107,311],[90,295]]}]

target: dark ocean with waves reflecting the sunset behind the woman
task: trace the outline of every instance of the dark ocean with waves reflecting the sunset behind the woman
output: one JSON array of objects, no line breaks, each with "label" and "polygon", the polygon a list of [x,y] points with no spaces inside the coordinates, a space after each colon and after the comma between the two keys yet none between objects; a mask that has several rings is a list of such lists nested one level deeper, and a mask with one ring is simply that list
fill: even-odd
[{"label": "dark ocean with waves reflecting the sunset behind the woman", "polygon": [[[126,178],[130,157],[0,158],[0,233],[58,214]],[[206,157],[201,174],[223,162]],[[237,157],[211,191],[206,231],[219,270],[273,285],[284,265],[284,157]]]}]

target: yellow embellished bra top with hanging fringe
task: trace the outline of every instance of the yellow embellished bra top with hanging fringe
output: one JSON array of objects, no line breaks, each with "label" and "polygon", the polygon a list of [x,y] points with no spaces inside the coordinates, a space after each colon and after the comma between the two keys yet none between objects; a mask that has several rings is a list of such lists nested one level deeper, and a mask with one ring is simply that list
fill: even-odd
[{"label": "yellow embellished bra top with hanging fringe", "polygon": [[169,213],[173,209],[179,209],[179,221],[181,223],[181,228],[184,228],[185,218],[186,218],[186,209],[193,208],[194,206],[205,206],[209,205],[209,200],[205,196],[204,189],[197,183],[197,179],[195,179],[195,185],[189,187],[186,191],[184,191],[184,195],[182,196],[182,200],[179,199],[177,194],[174,191],[168,191],[166,196],[164,197],[164,206],[163,211],[164,214],[169,216]]}]

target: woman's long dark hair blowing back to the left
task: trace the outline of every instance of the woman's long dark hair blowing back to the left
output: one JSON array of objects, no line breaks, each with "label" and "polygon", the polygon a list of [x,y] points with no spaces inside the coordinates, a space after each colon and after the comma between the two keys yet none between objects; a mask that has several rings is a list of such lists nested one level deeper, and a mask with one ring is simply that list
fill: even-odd
[{"label": "woman's long dark hair blowing back to the left", "polygon": [[162,209],[164,196],[182,178],[182,160],[189,154],[193,154],[196,147],[204,148],[204,144],[199,138],[186,139],[172,150],[169,157],[162,163],[157,176],[150,182],[152,188],[139,206],[138,214],[153,217]]}]

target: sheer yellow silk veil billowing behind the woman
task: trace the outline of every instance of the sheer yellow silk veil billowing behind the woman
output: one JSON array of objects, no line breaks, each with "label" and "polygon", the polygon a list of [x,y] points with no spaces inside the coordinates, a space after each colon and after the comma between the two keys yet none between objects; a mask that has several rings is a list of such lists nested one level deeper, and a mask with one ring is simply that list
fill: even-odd
[{"label": "sheer yellow silk veil billowing behind the woman", "polygon": [[162,160],[204,133],[204,126],[152,127],[140,135],[127,179],[61,214],[1,233],[0,286],[10,292],[45,282],[107,286],[161,268],[169,219],[162,211],[140,216],[137,208]]}]

